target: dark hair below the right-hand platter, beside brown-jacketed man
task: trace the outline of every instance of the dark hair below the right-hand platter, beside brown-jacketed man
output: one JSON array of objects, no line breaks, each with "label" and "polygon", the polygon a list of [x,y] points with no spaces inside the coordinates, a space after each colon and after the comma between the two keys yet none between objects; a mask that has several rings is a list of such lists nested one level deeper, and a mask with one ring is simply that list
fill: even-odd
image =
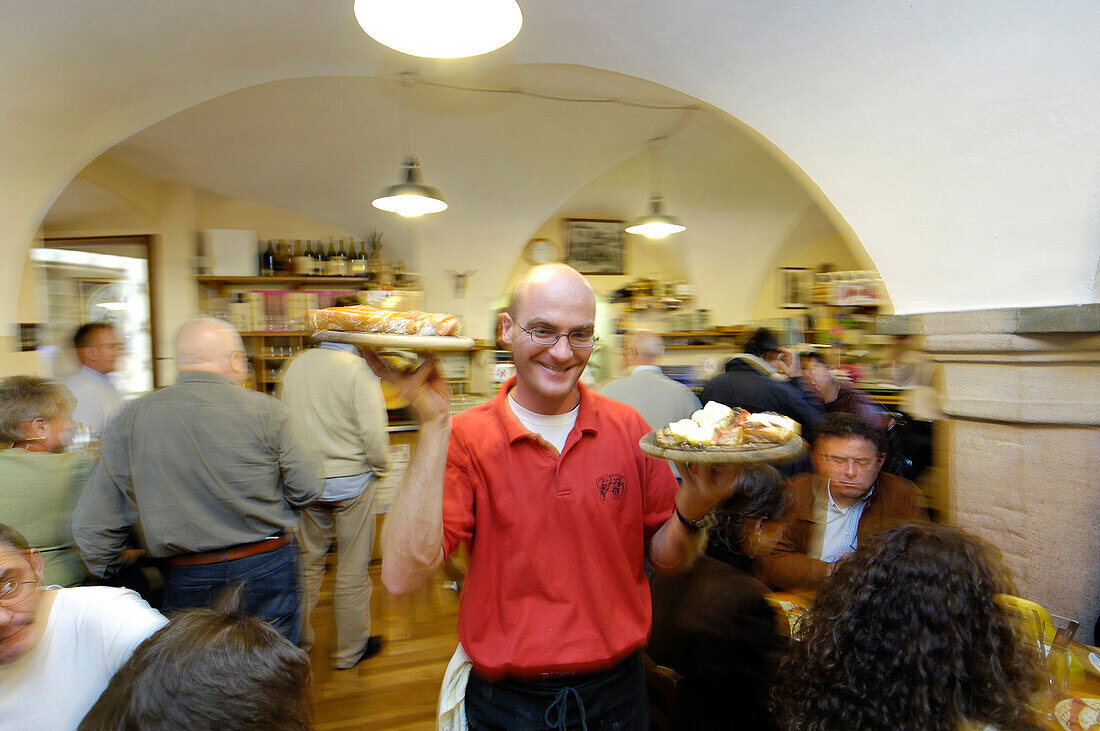
[{"label": "dark hair below the right-hand platter, beside brown-jacketed man", "polygon": [[743,549],[745,519],[777,520],[790,501],[782,473],[771,465],[746,465],[734,483],[734,494],[714,511],[706,555],[752,573],[752,560]]}]

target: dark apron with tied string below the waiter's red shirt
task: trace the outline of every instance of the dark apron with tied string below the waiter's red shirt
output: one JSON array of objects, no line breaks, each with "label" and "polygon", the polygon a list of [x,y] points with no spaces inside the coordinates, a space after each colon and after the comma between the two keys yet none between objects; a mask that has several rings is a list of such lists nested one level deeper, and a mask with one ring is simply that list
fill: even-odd
[{"label": "dark apron with tied string below the waiter's red shirt", "polygon": [[486,680],[471,672],[465,710],[471,731],[645,730],[649,699],[641,653],[600,673],[546,680]]}]

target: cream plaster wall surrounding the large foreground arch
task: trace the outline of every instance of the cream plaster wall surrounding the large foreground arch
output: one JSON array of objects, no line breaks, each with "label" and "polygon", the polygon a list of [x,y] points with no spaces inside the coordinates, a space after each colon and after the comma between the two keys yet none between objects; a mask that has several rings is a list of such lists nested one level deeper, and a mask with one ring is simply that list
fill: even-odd
[{"label": "cream plaster wall surrounding the large foreground arch", "polygon": [[[176,112],[280,79],[388,78],[406,67],[407,57],[362,34],[351,4],[4,3],[0,246],[25,251],[84,165]],[[1100,3],[521,5],[513,44],[477,59],[425,62],[421,74],[572,64],[714,104],[820,186],[899,312],[1092,298]],[[327,101],[316,113],[339,111]],[[0,273],[9,320],[16,283]]]}]

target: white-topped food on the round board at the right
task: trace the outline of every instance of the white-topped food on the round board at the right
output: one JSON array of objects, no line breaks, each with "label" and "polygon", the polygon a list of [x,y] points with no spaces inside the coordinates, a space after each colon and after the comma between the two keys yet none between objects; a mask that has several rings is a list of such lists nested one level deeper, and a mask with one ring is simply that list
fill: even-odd
[{"label": "white-topped food on the round board at the right", "polygon": [[799,422],[778,413],[749,413],[710,401],[690,419],[657,430],[654,441],[670,448],[741,447],[783,444],[800,431]]}]

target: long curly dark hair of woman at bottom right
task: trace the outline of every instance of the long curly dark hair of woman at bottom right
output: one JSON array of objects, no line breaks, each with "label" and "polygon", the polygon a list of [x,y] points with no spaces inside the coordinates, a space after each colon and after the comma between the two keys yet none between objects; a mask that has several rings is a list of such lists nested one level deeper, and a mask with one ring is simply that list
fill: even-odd
[{"label": "long curly dark hair of woman at bottom right", "polygon": [[1012,586],[996,554],[958,529],[880,533],[836,564],[803,617],[776,712],[793,731],[1032,728],[1038,658],[1000,592]]}]

